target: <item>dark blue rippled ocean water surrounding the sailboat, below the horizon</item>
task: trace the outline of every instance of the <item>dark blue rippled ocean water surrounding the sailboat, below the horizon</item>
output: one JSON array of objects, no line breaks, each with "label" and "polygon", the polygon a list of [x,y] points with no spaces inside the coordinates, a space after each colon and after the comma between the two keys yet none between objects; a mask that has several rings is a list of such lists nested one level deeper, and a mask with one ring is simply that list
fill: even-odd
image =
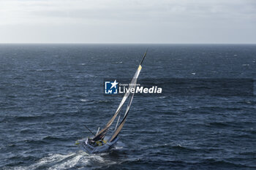
[{"label": "dark blue rippled ocean water surrounding the sailboat, below the horizon", "polygon": [[0,45],[0,169],[256,169],[253,84],[249,95],[135,95],[113,150],[75,145],[121,101],[103,80],[132,78],[147,48],[138,82],[255,80],[256,45]]}]

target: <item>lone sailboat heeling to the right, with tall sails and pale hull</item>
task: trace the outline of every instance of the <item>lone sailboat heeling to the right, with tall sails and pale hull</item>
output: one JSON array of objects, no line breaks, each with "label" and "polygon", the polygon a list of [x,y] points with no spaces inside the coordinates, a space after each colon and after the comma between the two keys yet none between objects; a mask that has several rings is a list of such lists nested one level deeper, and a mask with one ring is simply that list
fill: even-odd
[{"label": "lone sailboat heeling to the right, with tall sails and pale hull", "polygon": [[[147,53],[147,51],[146,51],[146,53]],[[141,65],[144,61],[144,58],[146,57],[146,53],[143,55],[143,58],[140,61],[140,65],[138,66],[138,69],[136,70],[135,75],[132,78],[132,81],[129,83],[129,89],[136,87],[137,79],[140,74],[140,70],[142,69]],[[119,139],[118,134],[120,133],[121,128],[123,128],[124,123],[127,120],[127,115],[128,115],[129,109],[131,107],[132,99],[133,99],[134,95],[135,95],[135,93],[131,94],[131,90],[128,90],[124,94],[124,97],[122,98],[118,108],[116,109],[115,114],[113,115],[113,117],[111,117],[111,119],[108,121],[108,123],[105,125],[105,127],[102,128],[102,130],[100,130],[100,131],[98,129],[97,134],[95,134],[92,137],[78,140],[77,144],[79,144],[80,147],[82,147],[82,149],[85,150],[86,152],[88,152],[89,154],[99,153],[99,152],[107,152],[108,150],[113,148]],[[113,131],[113,134],[109,138],[107,138],[106,134],[109,131],[110,125],[112,125],[112,123],[114,122],[114,120],[116,119],[118,114],[120,113],[121,108],[124,106],[125,101],[127,101],[127,98],[129,98],[129,102],[127,104],[127,109],[124,112],[124,117],[121,120],[121,123],[118,124],[119,119],[120,119],[120,115],[119,115],[118,120],[116,122],[116,128]],[[89,130],[89,131],[91,131],[91,130]]]}]

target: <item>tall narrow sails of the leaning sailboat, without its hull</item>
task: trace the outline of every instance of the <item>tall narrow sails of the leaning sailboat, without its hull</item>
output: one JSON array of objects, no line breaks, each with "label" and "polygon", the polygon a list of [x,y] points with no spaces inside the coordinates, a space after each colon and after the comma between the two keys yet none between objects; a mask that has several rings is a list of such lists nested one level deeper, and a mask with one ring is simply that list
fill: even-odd
[{"label": "tall narrow sails of the leaning sailboat, without its hull", "polygon": [[[146,51],[146,53],[147,53],[147,51]],[[141,64],[143,63],[143,60],[144,60],[144,58],[146,57],[146,53],[144,54],[142,60],[140,61],[140,65],[138,66],[138,69],[137,69],[137,71],[135,72],[135,75],[134,75],[134,77],[132,78],[132,81],[131,81],[130,84],[129,84],[129,89],[136,87],[137,79],[138,79],[138,76],[139,76],[139,74],[140,74],[140,70],[142,69]],[[96,136],[94,136],[94,138],[93,138],[94,141],[98,141],[98,140],[100,140],[100,139],[104,139],[105,134],[106,134],[107,131],[108,131],[108,128],[110,128],[110,125],[111,125],[111,124],[113,123],[113,121],[116,119],[116,116],[117,116],[118,113],[121,111],[121,108],[123,107],[124,102],[127,100],[127,98],[129,97],[129,94],[130,94],[130,93],[131,93],[131,90],[127,91],[127,93],[124,94],[124,97],[123,97],[123,99],[121,100],[121,102],[120,102],[118,108],[116,109],[115,114],[114,114],[113,117],[108,121],[108,123],[105,125],[105,128],[102,128],[102,130],[99,131],[99,133],[98,133]],[[129,107],[130,107],[130,105],[132,104],[132,98],[133,98],[133,96],[134,96],[134,93],[132,93],[132,96],[131,96],[131,98],[130,98],[130,100],[129,100],[129,104],[128,104],[127,110],[126,110],[126,112],[125,112],[124,119],[121,121],[120,125],[118,125],[118,128],[116,129],[115,133],[114,133],[113,136],[110,138],[110,140],[115,139],[115,137],[116,137],[116,136],[118,135],[118,133],[121,131],[121,128],[123,127],[124,122],[125,122],[125,119],[126,119],[126,117],[127,117],[127,114],[128,114],[128,112],[129,112]]]}]

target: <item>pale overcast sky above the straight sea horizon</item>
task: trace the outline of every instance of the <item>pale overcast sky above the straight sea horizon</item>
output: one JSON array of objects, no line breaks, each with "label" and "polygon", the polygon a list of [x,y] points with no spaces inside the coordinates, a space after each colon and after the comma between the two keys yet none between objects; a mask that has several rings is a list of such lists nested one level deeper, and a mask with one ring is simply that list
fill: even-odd
[{"label": "pale overcast sky above the straight sea horizon", "polygon": [[256,43],[256,0],[0,0],[0,43]]}]

